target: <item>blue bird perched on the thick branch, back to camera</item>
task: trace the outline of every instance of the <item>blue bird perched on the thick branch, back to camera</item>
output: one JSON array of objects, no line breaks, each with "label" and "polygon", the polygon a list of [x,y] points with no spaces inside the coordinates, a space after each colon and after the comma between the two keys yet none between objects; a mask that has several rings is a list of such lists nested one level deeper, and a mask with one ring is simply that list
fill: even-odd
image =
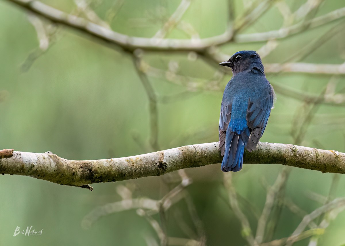
[{"label": "blue bird perched on the thick branch, back to camera", "polygon": [[237,172],[242,169],[244,148],[255,150],[264,134],[275,93],[256,51],[238,51],[219,65],[233,72],[220,106],[219,147],[224,156],[221,170]]}]

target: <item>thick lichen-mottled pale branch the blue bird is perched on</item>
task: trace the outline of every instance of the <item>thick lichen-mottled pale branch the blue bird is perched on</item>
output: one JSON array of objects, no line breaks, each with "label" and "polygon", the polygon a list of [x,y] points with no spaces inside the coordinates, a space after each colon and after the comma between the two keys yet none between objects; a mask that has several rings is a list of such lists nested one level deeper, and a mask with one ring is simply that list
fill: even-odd
[{"label": "thick lichen-mottled pale branch the blue bird is perched on", "polygon": [[[14,151],[12,157],[0,159],[0,173],[86,187],[91,183],[158,176],[183,168],[220,163],[221,160],[218,142],[187,145],[137,156],[87,161],[66,160],[51,152]],[[324,173],[345,173],[345,153],[292,144],[259,143],[255,151],[245,152],[244,163],[275,163]],[[89,186],[88,188],[90,189]]]}]

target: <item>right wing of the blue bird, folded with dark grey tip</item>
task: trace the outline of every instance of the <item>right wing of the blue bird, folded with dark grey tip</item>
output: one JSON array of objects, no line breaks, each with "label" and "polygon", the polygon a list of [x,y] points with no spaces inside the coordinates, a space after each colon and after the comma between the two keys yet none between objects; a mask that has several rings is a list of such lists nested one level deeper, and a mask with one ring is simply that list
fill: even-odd
[{"label": "right wing of the blue bird, folded with dark grey tip", "polygon": [[252,129],[246,146],[249,152],[255,150],[260,137],[264,134],[268,117],[273,106],[273,100],[273,93],[260,101],[251,101],[249,99],[246,116],[247,125]]}]

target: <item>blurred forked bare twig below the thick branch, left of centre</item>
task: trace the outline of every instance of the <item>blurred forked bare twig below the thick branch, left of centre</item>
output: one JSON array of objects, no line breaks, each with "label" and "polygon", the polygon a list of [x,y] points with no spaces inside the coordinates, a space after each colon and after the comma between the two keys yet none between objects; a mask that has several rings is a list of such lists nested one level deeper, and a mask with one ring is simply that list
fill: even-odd
[{"label": "blurred forked bare twig below the thick branch, left of centre", "polygon": [[[186,239],[170,238],[167,236],[165,211],[167,211],[172,204],[175,204],[182,198],[185,198],[188,211],[190,212],[191,218],[196,225],[199,235],[199,241],[190,240],[189,243],[197,242],[198,244],[196,245],[198,246],[205,245],[206,237],[204,234],[202,222],[196,213],[194,204],[191,201],[189,194],[184,191],[184,188],[191,184],[191,179],[187,176],[184,170],[179,170],[178,174],[181,178],[180,184],[178,184],[160,200],[152,200],[145,197],[132,198],[132,191],[130,188],[123,185],[117,186],[117,193],[121,196],[122,201],[96,207],[95,209],[93,209],[93,211],[91,211],[87,216],[84,217],[82,226],[87,229],[90,228],[91,225],[95,223],[101,216],[106,216],[111,213],[121,212],[129,209],[137,209],[137,214],[145,217],[152,228],[154,228],[155,232],[158,235],[158,238],[160,239],[160,245],[164,246],[170,244],[170,239],[173,240],[173,242],[180,242],[181,240],[183,241]],[[152,217],[152,215],[155,215],[157,213],[160,215],[160,223]],[[182,221],[179,222],[180,225],[182,225],[182,227],[186,229],[186,224],[181,223]],[[196,234],[188,226],[187,232],[191,232],[192,237],[197,238]],[[147,243],[152,241],[151,243],[155,244],[155,240],[153,238],[146,237],[146,241]]]}]

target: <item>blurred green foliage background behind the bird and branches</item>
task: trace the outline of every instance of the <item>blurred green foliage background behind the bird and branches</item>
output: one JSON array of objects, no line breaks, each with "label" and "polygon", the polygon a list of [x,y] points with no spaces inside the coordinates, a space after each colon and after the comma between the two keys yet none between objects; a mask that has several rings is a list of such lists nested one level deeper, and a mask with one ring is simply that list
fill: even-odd
[{"label": "blurred green foliage background behind the bird and branches", "polygon": [[[75,4],[70,0],[45,3],[66,12]],[[292,11],[300,1],[286,1]],[[303,1],[304,2],[304,1]],[[92,7],[100,18],[114,4],[111,0],[93,2]],[[128,35],[152,37],[164,24],[159,15],[169,16],[179,1],[125,1],[111,22],[111,27]],[[193,1],[184,20],[189,22],[201,38],[222,33],[226,28],[227,2],[225,0]],[[235,15],[240,16],[242,1],[234,3]],[[316,16],[344,7],[344,1],[324,1]],[[37,34],[27,13],[7,1],[0,2],[0,90],[6,100],[0,103],[1,148],[18,151],[53,153],[68,159],[86,160],[122,157],[144,153],[134,139],[144,143],[149,138],[148,97],[134,69],[131,57],[111,45],[85,34],[62,27],[58,40],[47,52],[30,63],[28,71],[21,70],[29,54],[37,49]],[[283,19],[277,8],[270,8],[243,33],[265,32],[281,27]],[[338,23],[338,22],[337,22]],[[320,37],[336,23],[305,31],[278,40],[279,46],[264,58],[264,63],[283,62],[295,52]],[[302,61],[339,64],[344,62],[345,45],[342,31],[329,37]],[[169,38],[187,38],[178,30]],[[230,43],[222,51],[233,54],[239,50],[258,50],[265,42]],[[214,68],[202,60],[190,61],[185,53],[145,53],[144,60],[152,66],[167,69],[169,61],[179,62],[179,72],[198,78],[212,78]],[[331,76],[301,73],[267,74],[269,81],[306,93],[319,94]],[[158,104],[159,145],[161,149],[188,144],[218,141],[219,107],[230,75],[226,75],[219,91],[201,91],[186,99]],[[344,77],[338,76],[336,91],[344,92]],[[174,95],[183,92],[183,86],[165,79],[150,78],[157,95]],[[294,143],[291,132],[296,130],[293,120],[303,105],[300,100],[277,94],[275,109],[271,113],[262,142]],[[308,127],[304,146],[333,149],[345,152],[344,107],[321,105]],[[245,165],[234,175],[237,192],[246,197],[260,211],[266,198],[262,185],[273,184],[282,169],[279,165]],[[187,170],[194,183],[187,189],[193,197],[197,212],[204,223],[207,245],[244,245],[240,223],[228,205],[220,165],[210,165]],[[308,191],[327,196],[333,174],[294,168],[286,188],[291,198],[307,212],[320,204],[306,197]],[[91,229],[81,227],[82,218],[93,208],[119,201],[117,185],[134,183],[137,196],[159,199],[174,184],[163,177],[101,183],[93,185],[94,191],[61,186],[25,176],[4,175],[0,178],[0,245],[146,245],[145,235],[157,238],[145,218],[135,211],[102,217]],[[345,177],[342,175],[336,196],[344,194]],[[256,229],[255,216],[242,207],[249,217],[252,230]],[[167,212],[169,236],[188,236],[179,227],[174,214],[179,211],[191,227],[193,223],[184,203],[172,206]],[[159,217],[155,217],[159,220]],[[283,208],[274,239],[289,236],[301,218]],[[327,227],[319,245],[341,245],[344,236],[345,214]],[[21,229],[33,226],[43,229],[42,236],[13,237],[16,226]],[[307,245],[308,239],[295,245]]]}]

